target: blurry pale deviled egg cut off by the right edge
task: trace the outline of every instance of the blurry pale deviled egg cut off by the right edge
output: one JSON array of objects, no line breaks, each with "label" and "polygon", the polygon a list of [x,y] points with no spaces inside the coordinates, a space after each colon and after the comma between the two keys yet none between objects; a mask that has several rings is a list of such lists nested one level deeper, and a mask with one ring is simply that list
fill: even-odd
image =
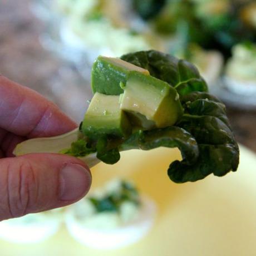
[{"label": "blurry pale deviled egg cut off by the right edge", "polygon": [[240,43],[232,53],[223,78],[225,86],[238,94],[256,94],[256,45]]}]

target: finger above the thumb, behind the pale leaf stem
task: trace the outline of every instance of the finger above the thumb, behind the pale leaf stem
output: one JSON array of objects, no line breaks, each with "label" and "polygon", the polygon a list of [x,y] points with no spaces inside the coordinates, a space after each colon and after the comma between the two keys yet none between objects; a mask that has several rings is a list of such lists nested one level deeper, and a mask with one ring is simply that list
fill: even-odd
[{"label": "finger above the thumb, behind the pale leaf stem", "polygon": [[75,129],[76,123],[51,101],[0,75],[0,127],[27,137],[47,137]]}]

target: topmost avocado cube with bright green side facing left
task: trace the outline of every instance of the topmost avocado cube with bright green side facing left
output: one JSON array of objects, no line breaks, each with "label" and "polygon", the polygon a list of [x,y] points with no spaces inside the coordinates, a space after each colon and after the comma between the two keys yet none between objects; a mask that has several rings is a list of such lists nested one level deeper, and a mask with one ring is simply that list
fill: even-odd
[{"label": "topmost avocado cube with bright green side facing left", "polygon": [[92,92],[107,95],[120,95],[124,90],[120,85],[125,85],[127,76],[131,71],[149,75],[149,71],[137,67],[120,58],[99,56],[92,66],[91,86]]}]

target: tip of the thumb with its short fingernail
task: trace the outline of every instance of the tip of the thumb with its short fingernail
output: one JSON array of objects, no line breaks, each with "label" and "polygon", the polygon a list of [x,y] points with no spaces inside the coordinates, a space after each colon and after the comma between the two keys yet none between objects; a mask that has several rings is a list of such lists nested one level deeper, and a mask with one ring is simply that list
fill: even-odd
[{"label": "tip of the thumb with its short fingernail", "polygon": [[67,164],[60,172],[60,200],[75,201],[85,195],[91,186],[91,174],[78,164]]}]

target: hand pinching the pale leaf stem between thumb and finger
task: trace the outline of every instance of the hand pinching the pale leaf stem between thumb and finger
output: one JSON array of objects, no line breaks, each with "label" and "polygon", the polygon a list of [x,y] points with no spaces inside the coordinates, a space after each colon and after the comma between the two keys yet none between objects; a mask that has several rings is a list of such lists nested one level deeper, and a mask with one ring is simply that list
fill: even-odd
[{"label": "hand pinching the pale leaf stem between thumb and finger", "polygon": [[52,102],[0,75],[0,221],[65,206],[87,193],[91,174],[81,160],[61,154],[12,154],[23,140],[75,127]]}]

